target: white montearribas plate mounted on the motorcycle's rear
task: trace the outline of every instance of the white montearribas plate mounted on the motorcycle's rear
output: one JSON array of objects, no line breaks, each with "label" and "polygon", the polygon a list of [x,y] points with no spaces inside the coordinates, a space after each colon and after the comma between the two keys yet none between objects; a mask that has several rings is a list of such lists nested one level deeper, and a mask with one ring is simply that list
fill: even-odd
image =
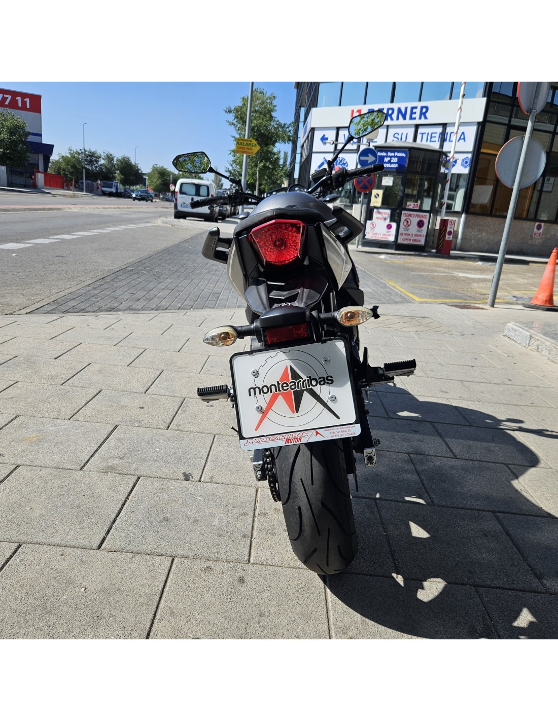
[{"label": "white montearribas plate mounted on the motorcycle's rear", "polygon": [[240,447],[273,448],[359,435],[342,338],[231,357]]}]

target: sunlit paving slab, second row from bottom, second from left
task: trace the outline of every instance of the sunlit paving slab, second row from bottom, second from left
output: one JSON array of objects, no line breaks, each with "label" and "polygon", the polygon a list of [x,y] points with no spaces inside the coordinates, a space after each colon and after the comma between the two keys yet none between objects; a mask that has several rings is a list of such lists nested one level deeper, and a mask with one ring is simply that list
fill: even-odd
[{"label": "sunlit paving slab, second row from bottom, second from left", "polygon": [[141,478],[103,549],[247,562],[255,495],[252,488]]}]

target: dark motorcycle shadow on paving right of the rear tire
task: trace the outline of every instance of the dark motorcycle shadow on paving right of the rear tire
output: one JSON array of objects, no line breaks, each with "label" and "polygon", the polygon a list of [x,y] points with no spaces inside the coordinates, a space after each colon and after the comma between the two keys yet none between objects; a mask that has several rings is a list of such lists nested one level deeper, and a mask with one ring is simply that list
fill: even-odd
[{"label": "dark motorcycle shadow on paving right of the rear tire", "polygon": [[527,445],[558,434],[389,390],[351,481],[358,555],[327,578],[335,637],[558,638],[558,483]]}]

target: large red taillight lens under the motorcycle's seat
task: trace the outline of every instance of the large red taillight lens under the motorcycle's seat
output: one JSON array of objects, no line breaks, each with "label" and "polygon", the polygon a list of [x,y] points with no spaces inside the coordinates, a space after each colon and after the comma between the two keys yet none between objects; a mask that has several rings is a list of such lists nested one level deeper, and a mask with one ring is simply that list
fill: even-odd
[{"label": "large red taillight lens under the motorcycle's seat", "polygon": [[301,221],[270,221],[254,228],[249,239],[263,265],[285,265],[302,257],[306,224]]}]

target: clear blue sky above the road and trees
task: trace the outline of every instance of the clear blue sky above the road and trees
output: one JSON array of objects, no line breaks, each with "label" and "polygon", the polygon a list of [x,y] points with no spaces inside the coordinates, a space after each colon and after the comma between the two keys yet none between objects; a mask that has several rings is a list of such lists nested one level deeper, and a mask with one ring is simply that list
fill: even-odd
[{"label": "clear blue sky above the road and trees", "polygon": [[[132,160],[135,153],[143,171],[149,171],[154,163],[172,169],[177,154],[203,150],[213,167],[224,172],[228,151],[234,147],[234,130],[226,122],[231,116],[224,108],[238,105],[249,92],[249,82],[3,80],[0,85],[43,96],[43,142],[53,143],[54,158],[68,147],[81,148],[83,123],[87,123],[86,148],[128,155]],[[254,87],[276,96],[279,120],[293,120],[293,81],[254,81]],[[289,146],[289,154],[290,150]]]}]

